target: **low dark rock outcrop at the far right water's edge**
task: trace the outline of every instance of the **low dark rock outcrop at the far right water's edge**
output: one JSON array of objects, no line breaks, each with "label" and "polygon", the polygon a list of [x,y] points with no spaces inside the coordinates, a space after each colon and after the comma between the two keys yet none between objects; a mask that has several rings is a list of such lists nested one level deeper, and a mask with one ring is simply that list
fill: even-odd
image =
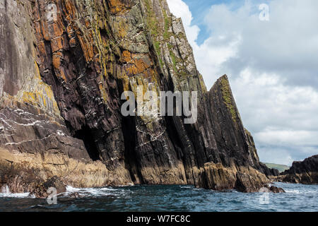
[{"label": "low dark rock outcrop at the far right water's edge", "polygon": [[318,184],[318,155],[307,157],[302,162],[293,162],[292,167],[282,172],[277,180],[297,184]]}]

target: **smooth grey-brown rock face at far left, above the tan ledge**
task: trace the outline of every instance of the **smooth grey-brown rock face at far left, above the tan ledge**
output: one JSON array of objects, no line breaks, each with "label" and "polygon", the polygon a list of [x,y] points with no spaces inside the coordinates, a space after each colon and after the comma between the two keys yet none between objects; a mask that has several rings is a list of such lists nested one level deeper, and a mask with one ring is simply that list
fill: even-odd
[{"label": "smooth grey-brown rock face at far left, above the tan ledge", "polygon": [[89,160],[83,141],[70,136],[52,89],[40,78],[32,6],[1,1],[0,144],[25,153],[61,152]]}]

